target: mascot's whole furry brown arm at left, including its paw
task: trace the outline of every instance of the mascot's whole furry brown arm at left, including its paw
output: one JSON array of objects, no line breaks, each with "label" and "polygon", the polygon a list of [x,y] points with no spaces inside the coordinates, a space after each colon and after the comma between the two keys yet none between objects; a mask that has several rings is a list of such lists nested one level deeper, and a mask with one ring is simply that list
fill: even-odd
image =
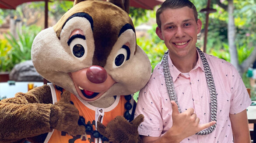
[{"label": "mascot's whole furry brown arm at left, including its paw", "polygon": [[0,101],[0,143],[14,142],[24,138],[51,132],[53,129],[72,135],[85,133],[84,126],[78,126],[78,110],[70,104],[70,93],[52,104],[48,85],[18,92],[14,98]]}]

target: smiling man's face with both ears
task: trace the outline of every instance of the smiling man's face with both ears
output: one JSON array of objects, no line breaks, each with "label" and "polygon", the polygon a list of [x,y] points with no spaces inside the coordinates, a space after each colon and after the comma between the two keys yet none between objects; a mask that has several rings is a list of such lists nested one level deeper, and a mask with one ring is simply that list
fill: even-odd
[{"label": "smiling man's face with both ears", "polygon": [[202,26],[201,20],[194,17],[193,9],[182,7],[166,9],[160,14],[161,29],[156,33],[170,51],[172,58],[191,58],[196,53],[197,34]]}]

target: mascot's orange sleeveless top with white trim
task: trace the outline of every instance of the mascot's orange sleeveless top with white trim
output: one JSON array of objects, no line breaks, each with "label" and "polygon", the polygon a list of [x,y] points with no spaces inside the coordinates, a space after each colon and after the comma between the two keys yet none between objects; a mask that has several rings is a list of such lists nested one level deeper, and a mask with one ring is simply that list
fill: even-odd
[{"label": "mascot's orange sleeveless top with white trim", "polygon": [[[60,100],[61,91],[57,90],[53,84],[49,84],[49,86],[51,87],[53,95],[53,103],[55,103]],[[131,100],[133,101],[133,99]],[[78,99],[77,96],[72,93],[70,95],[70,101],[72,101],[74,106],[78,109],[79,115],[84,117],[85,124],[89,122],[92,124],[93,130],[95,130],[97,126],[97,121],[107,126],[116,116],[123,116],[124,112],[126,112],[124,105],[127,101],[124,96],[116,96],[115,102],[108,108],[92,106],[88,102]],[[53,129],[53,132],[48,133],[44,143],[102,143],[102,140],[100,138],[94,138],[92,133],[87,133],[86,137],[83,135],[70,136],[65,132]]]}]

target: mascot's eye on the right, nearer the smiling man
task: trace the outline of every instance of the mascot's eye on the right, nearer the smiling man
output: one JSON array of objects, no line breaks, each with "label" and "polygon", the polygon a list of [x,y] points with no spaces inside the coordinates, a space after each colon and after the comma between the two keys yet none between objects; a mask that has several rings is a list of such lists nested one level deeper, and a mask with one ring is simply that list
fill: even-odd
[{"label": "mascot's eye on the right, nearer the smiling man", "polygon": [[116,54],[115,62],[113,63],[114,67],[119,67],[123,65],[123,63],[126,60],[129,60],[130,58],[130,48],[126,45],[123,45],[122,48],[119,49],[119,51]]}]

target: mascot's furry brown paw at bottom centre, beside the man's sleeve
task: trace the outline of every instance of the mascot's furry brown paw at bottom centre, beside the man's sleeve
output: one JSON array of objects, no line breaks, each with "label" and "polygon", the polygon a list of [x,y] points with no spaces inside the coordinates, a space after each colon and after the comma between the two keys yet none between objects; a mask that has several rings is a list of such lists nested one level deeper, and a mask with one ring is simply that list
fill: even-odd
[{"label": "mascot's furry brown paw at bottom centre, beside the man's sleeve", "polygon": [[138,126],[143,120],[142,114],[130,123],[123,116],[117,116],[106,127],[98,122],[97,130],[112,143],[141,143]]}]

